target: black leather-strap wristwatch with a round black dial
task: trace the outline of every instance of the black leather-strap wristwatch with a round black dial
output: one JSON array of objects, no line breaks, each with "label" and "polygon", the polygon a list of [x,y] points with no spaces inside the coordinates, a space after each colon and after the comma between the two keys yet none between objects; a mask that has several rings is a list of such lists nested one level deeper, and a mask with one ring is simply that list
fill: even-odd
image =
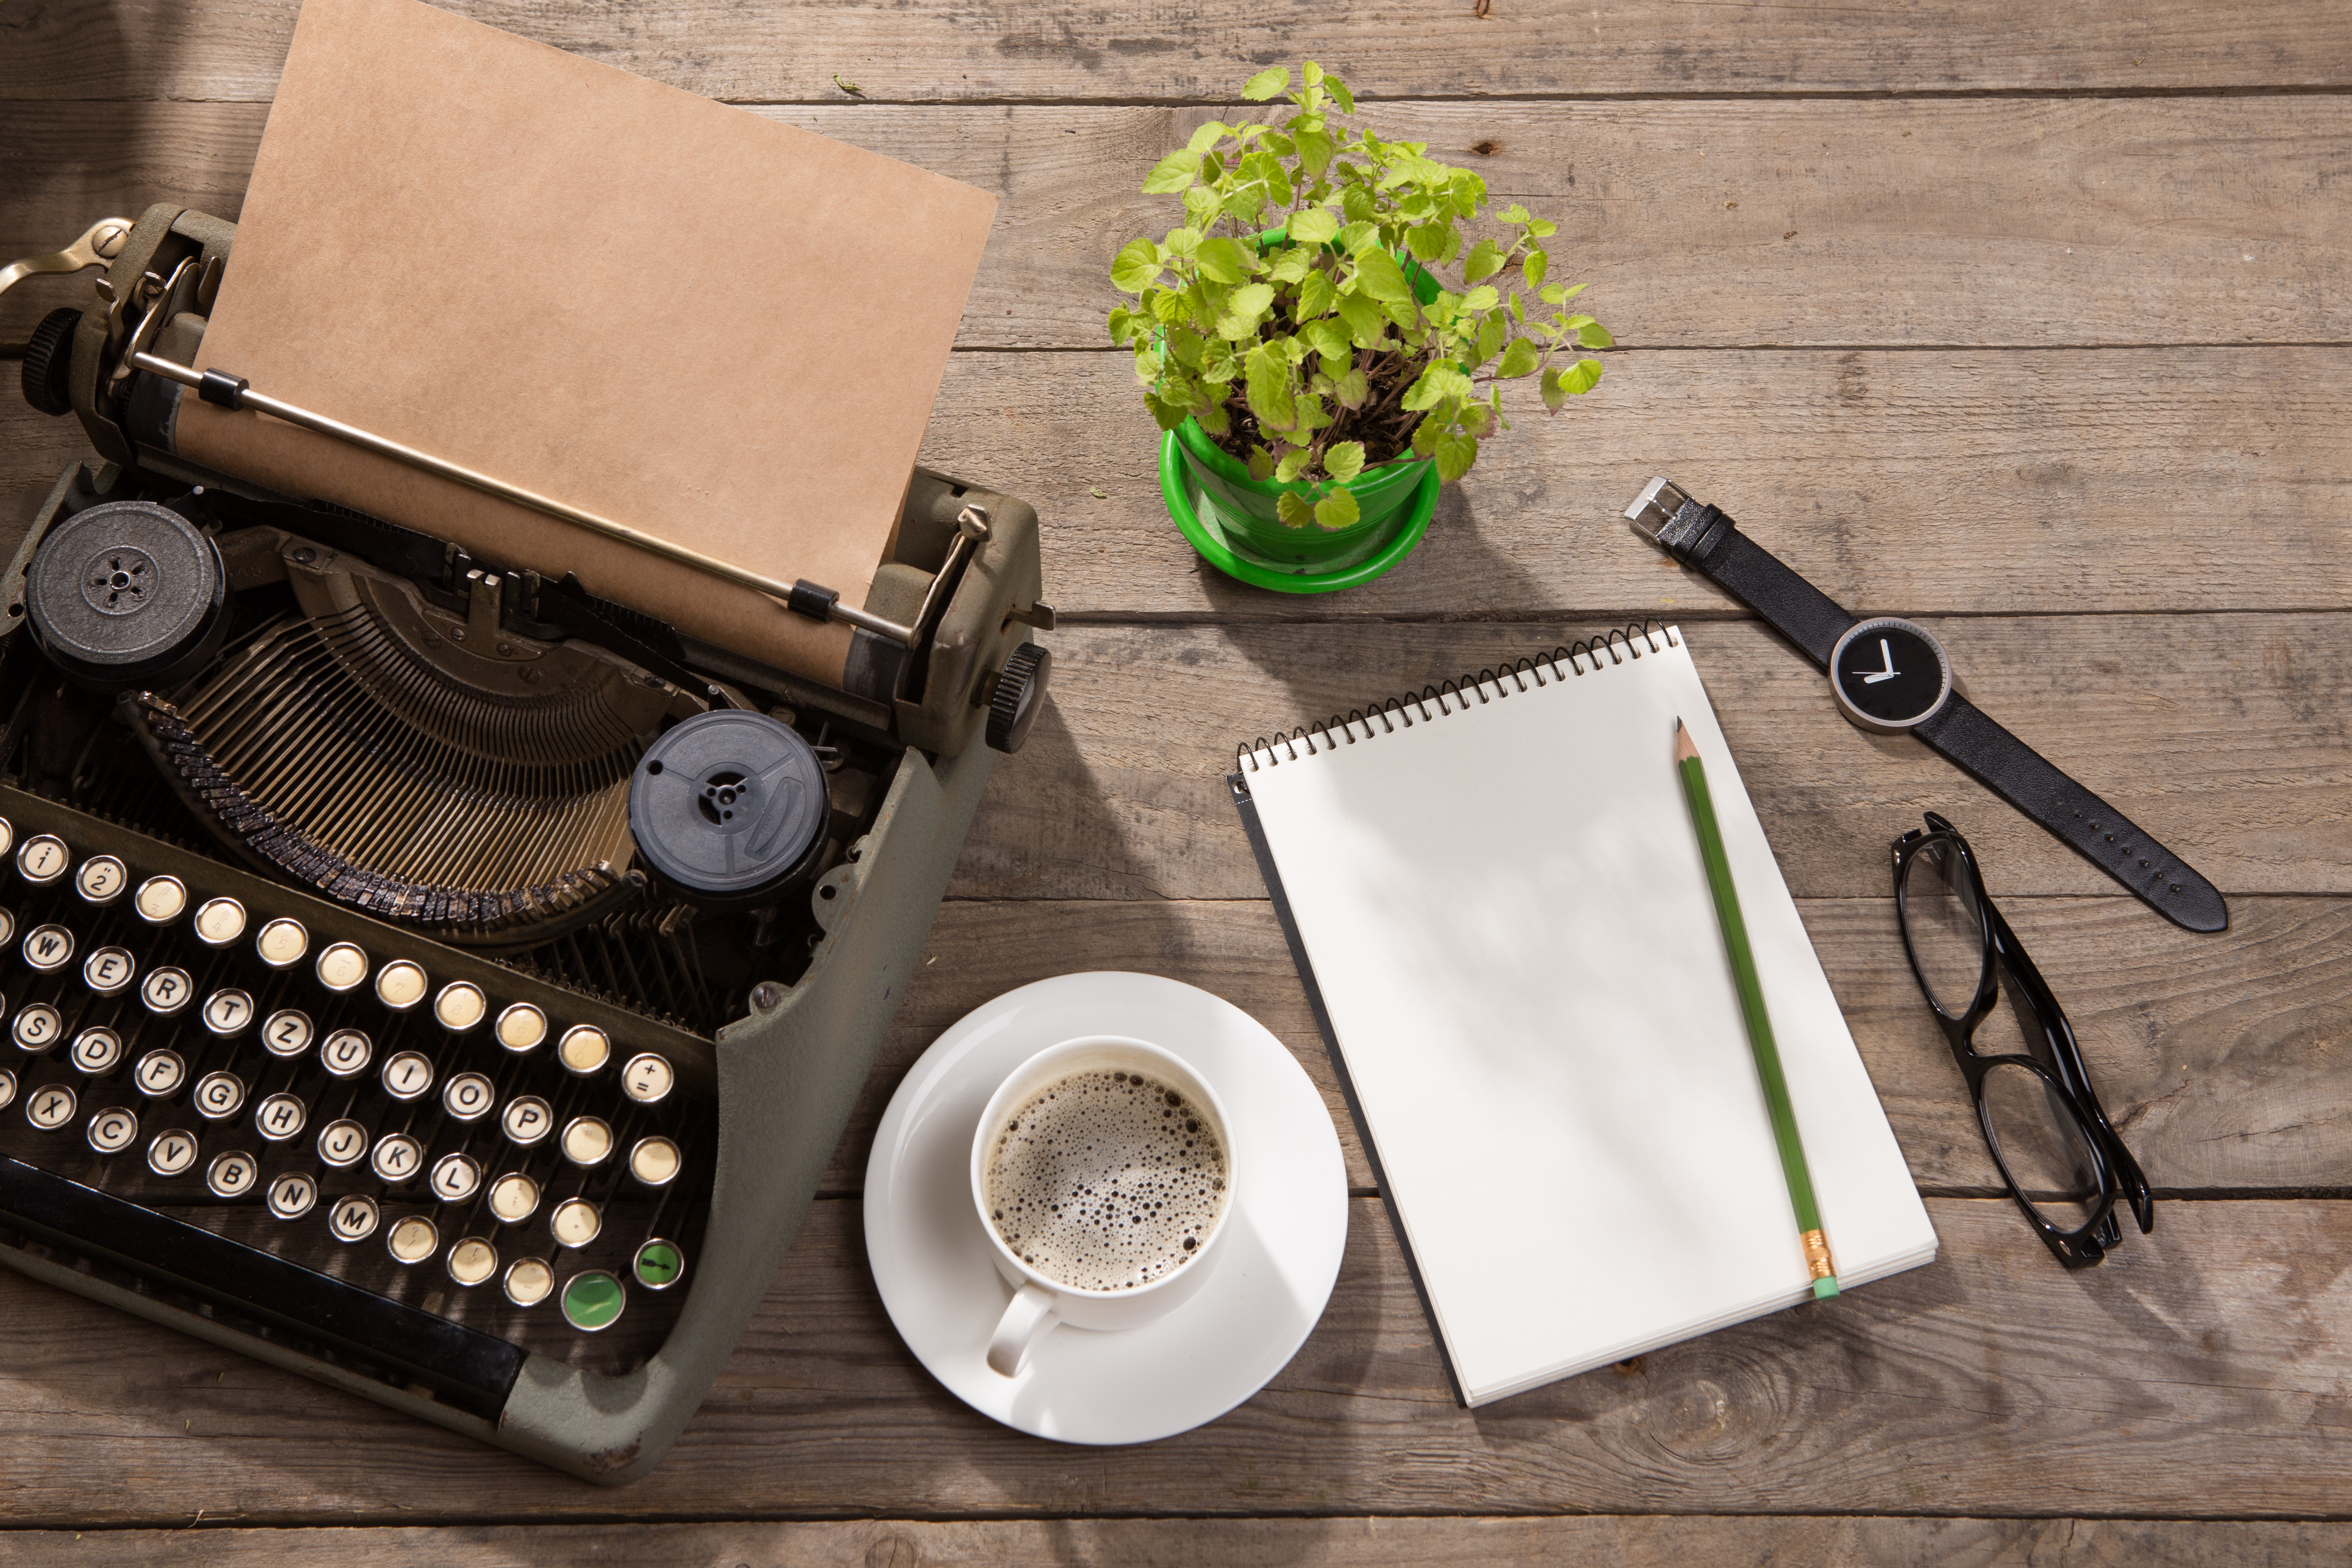
[{"label": "black leather-strap wristwatch with a round black dial", "polygon": [[1853,724],[1912,733],[2006,799],[2058,842],[2187,931],[2225,931],[2230,905],[2173,851],[2136,827],[1985,717],[1952,679],[1952,658],[1931,630],[1896,616],[1867,621],[1790,571],[1740,534],[1722,508],[1691,501],[1656,477],[1625,508],[1632,531],[1693,567],[1828,670],[1830,696]]}]

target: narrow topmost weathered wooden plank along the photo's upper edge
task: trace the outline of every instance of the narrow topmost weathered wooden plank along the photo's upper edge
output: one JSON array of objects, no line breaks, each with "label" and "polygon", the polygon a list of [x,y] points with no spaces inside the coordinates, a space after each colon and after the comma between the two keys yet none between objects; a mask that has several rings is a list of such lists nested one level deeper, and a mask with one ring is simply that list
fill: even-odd
[{"label": "narrow topmost weathered wooden plank along the photo's upper edge", "polygon": [[[294,0],[186,12],[172,0],[14,0],[5,92],[47,99],[266,99]],[[840,7],[459,0],[480,21],[715,99],[1218,99],[1258,66],[1319,59],[1364,94],[1999,92],[2321,87],[2345,82],[2352,21],[2331,5],[2030,0],[1804,9],[1496,0],[1345,9],[1185,0],[1164,12],[924,0]]]}]

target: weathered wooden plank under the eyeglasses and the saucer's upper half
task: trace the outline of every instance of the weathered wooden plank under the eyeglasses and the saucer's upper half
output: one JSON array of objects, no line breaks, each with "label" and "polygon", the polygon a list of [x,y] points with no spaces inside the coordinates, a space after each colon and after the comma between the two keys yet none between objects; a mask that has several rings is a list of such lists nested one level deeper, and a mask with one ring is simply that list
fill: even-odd
[{"label": "weathered wooden plank under the eyeglasses and the saucer's upper half", "polygon": [[[1797,910],[1919,1187],[1999,1192],[1959,1070],[1903,961],[1893,903],[1806,898]],[[2352,1187],[2352,900],[2241,898],[2225,936],[2176,931],[2131,898],[2011,898],[2004,910],[2150,1182]],[[1197,898],[946,903],[826,1190],[863,1190],[882,1110],[948,1025],[1018,985],[1087,969],[1171,976],[1272,1030],[1322,1091],[1350,1185],[1371,1190],[1272,907]]]}]

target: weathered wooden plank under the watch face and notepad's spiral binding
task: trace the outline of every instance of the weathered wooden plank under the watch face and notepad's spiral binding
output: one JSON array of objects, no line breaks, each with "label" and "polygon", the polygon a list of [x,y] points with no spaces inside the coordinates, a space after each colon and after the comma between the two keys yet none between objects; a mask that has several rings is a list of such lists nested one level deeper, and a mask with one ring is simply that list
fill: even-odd
[{"label": "weathered wooden plank under the watch face and notepad's spiral binding", "polygon": [[[1065,625],[1049,637],[1049,705],[1000,762],[953,886],[967,898],[1261,898],[1223,783],[1237,741],[1604,625]],[[2352,891],[2352,616],[1933,625],[1985,712],[2223,891]],[[1994,896],[2114,889],[1924,745],[1837,717],[1820,672],[1762,623],[1684,632],[1790,891],[1882,896],[1886,846],[1922,811],[1969,835]],[[1465,795],[1442,813],[1472,827],[1522,806]]]}]

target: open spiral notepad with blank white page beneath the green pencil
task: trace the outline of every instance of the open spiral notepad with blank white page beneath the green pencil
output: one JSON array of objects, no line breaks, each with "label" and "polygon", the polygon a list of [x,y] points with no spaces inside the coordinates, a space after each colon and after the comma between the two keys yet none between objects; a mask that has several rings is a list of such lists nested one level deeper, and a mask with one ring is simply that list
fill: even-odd
[{"label": "open spiral notepad with blank white page beneath the green pencil", "polygon": [[1811,1293],[1675,778],[1677,717],[1708,764],[1837,1276],[1929,1262],[1936,1232],[1679,628],[1235,755],[1235,804],[1472,1406]]}]

